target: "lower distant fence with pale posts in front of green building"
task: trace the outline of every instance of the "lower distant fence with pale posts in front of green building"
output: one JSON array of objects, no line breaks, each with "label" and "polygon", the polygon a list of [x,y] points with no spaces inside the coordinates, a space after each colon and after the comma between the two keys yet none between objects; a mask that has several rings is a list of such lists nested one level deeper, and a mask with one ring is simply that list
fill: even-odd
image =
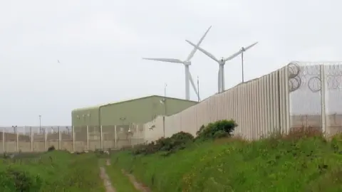
[{"label": "lower distant fence with pale posts in front of green building", "polygon": [[0,153],[40,152],[48,147],[68,151],[122,148],[145,142],[142,125],[101,127],[0,127]]}]

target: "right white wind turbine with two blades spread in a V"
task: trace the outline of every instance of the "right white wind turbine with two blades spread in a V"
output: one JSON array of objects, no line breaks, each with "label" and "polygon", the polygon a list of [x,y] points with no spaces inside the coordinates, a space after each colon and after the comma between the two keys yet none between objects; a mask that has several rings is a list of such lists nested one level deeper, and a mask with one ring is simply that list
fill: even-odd
[{"label": "right white wind turbine with two blades spread in a V", "polygon": [[220,60],[218,60],[217,58],[214,57],[214,55],[212,55],[212,53],[209,53],[207,50],[204,50],[203,48],[200,48],[199,46],[195,45],[191,41],[188,41],[188,40],[185,40],[185,41],[187,41],[187,43],[190,43],[190,45],[194,46],[194,48],[197,48],[198,50],[200,50],[202,53],[207,55],[209,58],[212,58],[212,60],[214,60],[217,63],[219,63],[218,92],[223,92],[224,91],[224,64],[226,63],[226,61],[227,60],[232,60],[233,58],[237,57],[238,55],[240,55],[244,51],[248,50],[249,48],[252,48],[253,46],[257,45],[257,43],[258,43],[258,42],[253,43],[250,46],[247,46],[247,47],[245,47],[243,49],[240,49],[237,53],[234,53],[233,55],[230,55],[227,58],[221,58]]}]

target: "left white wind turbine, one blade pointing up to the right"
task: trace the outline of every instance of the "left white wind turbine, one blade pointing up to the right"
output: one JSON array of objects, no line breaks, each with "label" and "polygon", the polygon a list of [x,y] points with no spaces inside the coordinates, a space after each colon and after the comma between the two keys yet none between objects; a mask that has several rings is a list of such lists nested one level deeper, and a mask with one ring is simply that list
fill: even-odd
[{"label": "left white wind turbine, one blade pointing up to the right", "polygon": [[[207,29],[207,31],[204,33],[202,38],[199,39],[197,46],[199,46],[202,43],[205,36],[207,36],[207,33],[209,32],[210,28],[212,28],[212,26],[210,26]],[[191,53],[187,56],[186,60],[173,59],[173,58],[142,58],[142,59],[158,60],[158,61],[164,61],[164,62],[170,62],[170,63],[182,63],[185,67],[185,100],[190,100],[190,83],[191,83],[192,88],[194,89],[197,97],[199,97],[199,93],[197,92],[197,88],[195,86],[194,80],[192,79],[192,75],[191,75],[190,69],[189,69],[189,66],[191,65],[191,59],[195,55],[196,50],[197,50],[197,48],[194,47],[194,49],[192,49]]]}]

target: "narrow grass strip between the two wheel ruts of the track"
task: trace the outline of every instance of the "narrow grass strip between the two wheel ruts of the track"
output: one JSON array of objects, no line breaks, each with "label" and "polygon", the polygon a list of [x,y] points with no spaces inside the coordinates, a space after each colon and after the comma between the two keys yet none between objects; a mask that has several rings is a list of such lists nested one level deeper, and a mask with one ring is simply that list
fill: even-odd
[{"label": "narrow grass strip between the two wheel ruts of the track", "polygon": [[105,167],[105,171],[110,177],[113,188],[117,192],[138,192],[133,186],[133,183],[130,182],[128,176],[125,176],[118,166],[113,165],[113,162],[110,166],[106,166],[105,159],[101,159],[101,164]]}]

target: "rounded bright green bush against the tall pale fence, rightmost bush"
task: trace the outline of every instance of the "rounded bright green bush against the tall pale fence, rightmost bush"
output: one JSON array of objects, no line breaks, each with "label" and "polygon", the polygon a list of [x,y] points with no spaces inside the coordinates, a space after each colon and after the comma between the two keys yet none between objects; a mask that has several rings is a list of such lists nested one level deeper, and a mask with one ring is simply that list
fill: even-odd
[{"label": "rounded bright green bush against the tall pale fence, rightmost bush", "polygon": [[206,127],[202,126],[196,133],[197,140],[218,139],[221,137],[231,137],[234,128],[237,124],[234,120],[221,120],[214,123],[207,124]]}]

